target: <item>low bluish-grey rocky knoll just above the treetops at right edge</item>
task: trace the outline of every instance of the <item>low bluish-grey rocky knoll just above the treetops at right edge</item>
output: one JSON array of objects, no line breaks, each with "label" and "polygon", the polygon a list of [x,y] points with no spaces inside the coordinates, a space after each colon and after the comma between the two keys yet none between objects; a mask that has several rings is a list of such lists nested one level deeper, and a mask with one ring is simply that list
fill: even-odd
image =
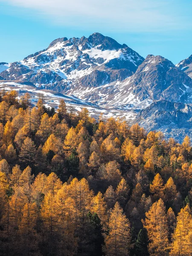
[{"label": "low bluish-grey rocky knoll just above the treetops at right edge", "polygon": [[192,106],[160,100],[140,111],[134,122],[182,142],[186,135],[192,137]]}]

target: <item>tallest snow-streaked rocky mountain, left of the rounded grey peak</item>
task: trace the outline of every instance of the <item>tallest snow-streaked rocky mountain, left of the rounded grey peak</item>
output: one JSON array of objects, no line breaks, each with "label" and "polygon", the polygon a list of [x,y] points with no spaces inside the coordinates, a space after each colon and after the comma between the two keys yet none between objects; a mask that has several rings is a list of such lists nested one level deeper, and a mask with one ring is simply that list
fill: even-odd
[{"label": "tallest snow-streaked rocky mountain, left of the rounded grey peak", "polygon": [[143,61],[144,58],[127,45],[94,33],[88,38],[58,38],[47,49],[23,61],[3,65],[0,76],[79,96],[78,93],[87,88],[124,80],[134,74]]}]

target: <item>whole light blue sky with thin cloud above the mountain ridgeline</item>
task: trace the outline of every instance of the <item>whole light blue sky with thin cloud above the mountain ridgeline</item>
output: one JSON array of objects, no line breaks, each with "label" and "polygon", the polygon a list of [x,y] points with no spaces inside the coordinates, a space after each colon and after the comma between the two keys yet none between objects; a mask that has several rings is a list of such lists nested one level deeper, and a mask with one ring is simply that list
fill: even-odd
[{"label": "whole light blue sky with thin cloud above the mountain ridgeline", "polygon": [[192,0],[0,0],[0,62],[100,32],[174,64],[192,54]]}]

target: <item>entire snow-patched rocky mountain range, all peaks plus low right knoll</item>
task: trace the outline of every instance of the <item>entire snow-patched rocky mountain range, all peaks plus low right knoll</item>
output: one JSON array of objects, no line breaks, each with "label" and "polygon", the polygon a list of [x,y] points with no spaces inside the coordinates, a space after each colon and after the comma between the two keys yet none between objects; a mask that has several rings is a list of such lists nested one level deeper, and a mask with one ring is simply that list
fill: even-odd
[{"label": "entire snow-patched rocky mountain range, all peaks plus low right knoll", "polygon": [[[177,65],[162,56],[144,59],[126,44],[94,33],[88,38],[58,38],[22,61],[2,62],[0,80],[29,81],[38,90],[54,90],[94,105],[140,110],[136,120],[147,130],[165,130],[170,122],[173,129],[185,128],[184,134],[192,129],[192,55]],[[178,114],[182,118],[174,119]]]}]

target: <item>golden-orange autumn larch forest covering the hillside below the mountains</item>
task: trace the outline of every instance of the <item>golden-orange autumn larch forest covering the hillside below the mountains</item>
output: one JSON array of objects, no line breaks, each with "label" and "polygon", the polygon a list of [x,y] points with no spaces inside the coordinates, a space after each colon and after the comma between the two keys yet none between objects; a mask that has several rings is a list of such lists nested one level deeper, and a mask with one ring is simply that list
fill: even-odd
[{"label": "golden-orange autumn larch forest covering the hillside below the mountains", "polygon": [[191,256],[192,145],[0,94],[0,255]]}]

